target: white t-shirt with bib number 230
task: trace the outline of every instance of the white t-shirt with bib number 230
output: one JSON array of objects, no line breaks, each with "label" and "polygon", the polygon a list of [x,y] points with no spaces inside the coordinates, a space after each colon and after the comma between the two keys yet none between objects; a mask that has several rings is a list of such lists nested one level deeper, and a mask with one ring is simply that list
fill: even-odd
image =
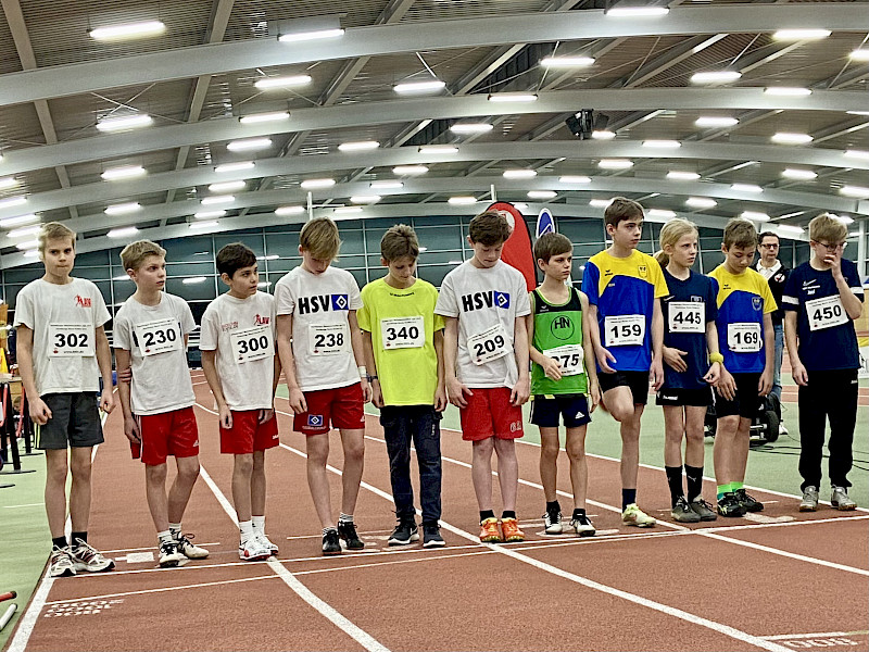
[{"label": "white t-shirt with bib number 230", "polygon": [[115,315],[114,347],[130,352],[129,402],[137,415],[162,414],[196,403],[184,338],[197,328],[187,302],[161,292],[144,305],[130,297]]}]

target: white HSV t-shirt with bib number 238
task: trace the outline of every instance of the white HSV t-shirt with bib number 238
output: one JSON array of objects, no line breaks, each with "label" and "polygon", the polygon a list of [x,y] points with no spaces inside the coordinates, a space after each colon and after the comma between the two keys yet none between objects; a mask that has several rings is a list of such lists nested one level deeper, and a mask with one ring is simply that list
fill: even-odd
[{"label": "white HSV t-shirt with bib number 238", "polygon": [[350,311],[362,308],[356,279],[329,266],[312,274],[300,265],[275,285],[279,315],[292,315],[292,354],[302,391],[360,381],[350,341]]}]

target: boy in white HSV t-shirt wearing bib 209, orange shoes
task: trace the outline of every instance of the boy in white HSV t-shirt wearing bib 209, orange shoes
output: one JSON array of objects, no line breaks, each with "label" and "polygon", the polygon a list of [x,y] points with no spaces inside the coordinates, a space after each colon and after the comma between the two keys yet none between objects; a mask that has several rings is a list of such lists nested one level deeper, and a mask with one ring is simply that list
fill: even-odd
[{"label": "boy in white HSV t-shirt wearing bib 209, orange shoes", "polygon": [[[434,314],[445,318],[443,364],[450,402],[462,415],[462,439],[471,441],[471,478],[480,507],[480,541],[522,541],[516,519],[519,465],[515,439],[522,436],[520,405],[531,392],[528,329],[531,304],[525,277],[501,261],[511,234],[496,212],[468,226],[474,258],[443,279]],[[504,511],[492,509],[492,451]]]}]

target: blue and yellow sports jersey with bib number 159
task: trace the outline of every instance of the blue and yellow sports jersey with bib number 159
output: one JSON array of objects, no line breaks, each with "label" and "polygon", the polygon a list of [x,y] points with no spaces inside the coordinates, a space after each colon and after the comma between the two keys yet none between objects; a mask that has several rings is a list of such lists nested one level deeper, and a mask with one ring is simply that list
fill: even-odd
[{"label": "blue and yellow sports jersey with bib number 159", "polygon": [[655,299],[668,294],[658,262],[635,249],[624,259],[602,251],[585,263],[582,291],[597,306],[601,344],[616,358],[609,365],[619,372],[647,372]]}]

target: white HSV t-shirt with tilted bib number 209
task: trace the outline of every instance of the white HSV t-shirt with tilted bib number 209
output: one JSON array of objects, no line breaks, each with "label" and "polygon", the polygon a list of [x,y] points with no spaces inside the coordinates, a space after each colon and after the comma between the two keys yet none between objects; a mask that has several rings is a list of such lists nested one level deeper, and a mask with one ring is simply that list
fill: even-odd
[{"label": "white HSV t-shirt with tilted bib number 209", "polygon": [[521,273],[503,261],[478,268],[462,263],[443,279],[434,312],[458,317],[456,376],[468,387],[513,387],[516,317],[531,312]]}]

